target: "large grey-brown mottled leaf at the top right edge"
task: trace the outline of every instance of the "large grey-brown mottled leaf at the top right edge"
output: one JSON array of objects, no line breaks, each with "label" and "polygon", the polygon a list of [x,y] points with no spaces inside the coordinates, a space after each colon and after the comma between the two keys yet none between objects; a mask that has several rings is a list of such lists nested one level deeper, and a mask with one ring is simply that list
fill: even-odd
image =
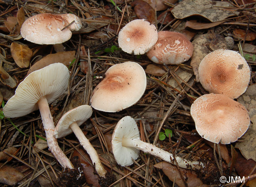
[{"label": "large grey-brown mottled leaf at the top right edge", "polygon": [[233,6],[225,1],[212,0],[183,0],[176,5],[173,10],[173,16],[177,19],[183,19],[189,16],[202,16],[211,22],[220,22],[227,17],[238,15]]}]

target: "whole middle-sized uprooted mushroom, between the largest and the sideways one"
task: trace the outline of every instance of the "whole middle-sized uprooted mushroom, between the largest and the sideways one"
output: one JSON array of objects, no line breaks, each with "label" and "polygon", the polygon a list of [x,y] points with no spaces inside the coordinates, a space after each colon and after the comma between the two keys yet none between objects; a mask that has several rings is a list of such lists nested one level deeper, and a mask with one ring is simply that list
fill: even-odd
[{"label": "whole middle-sized uprooted mushroom, between the largest and the sideways one", "polygon": [[93,164],[95,164],[95,169],[99,176],[105,178],[106,170],[103,168],[103,165],[99,160],[97,151],[91,145],[90,141],[84,136],[83,131],[79,128],[80,125],[91,117],[92,113],[93,110],[89,105],[81,105],[69,110],[60,118],[54,130],[54,136],[56,138],[61,138],[74,132],[80,144],[91,157]]}]

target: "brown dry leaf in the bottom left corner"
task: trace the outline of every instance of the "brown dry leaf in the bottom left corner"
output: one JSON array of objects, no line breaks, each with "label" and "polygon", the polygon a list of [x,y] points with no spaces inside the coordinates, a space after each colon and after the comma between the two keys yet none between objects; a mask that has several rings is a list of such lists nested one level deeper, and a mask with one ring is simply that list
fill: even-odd
[{"label": "brown dry leaf in the bottom left corner", "polygon": [[[0,163],[0,167],[3,164]],[[22,178],[24,174],[10,165],[4,165],[0,169],[0,183],[15,186]]]}]

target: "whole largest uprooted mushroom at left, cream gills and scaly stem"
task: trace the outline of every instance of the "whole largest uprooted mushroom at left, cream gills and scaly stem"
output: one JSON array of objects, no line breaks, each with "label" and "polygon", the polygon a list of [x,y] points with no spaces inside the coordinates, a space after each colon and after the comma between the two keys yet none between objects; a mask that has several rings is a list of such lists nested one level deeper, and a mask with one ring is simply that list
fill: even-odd
[{"label": "whole largest uprooted mushroom at left, cream gills and scaly stem", "polygon": [[55,126],[48,105],[67,90],[68,79],[68,68],[62,63],[33,71],[18,85],[3,112],[5,117],[20,117],[39,109],[50,151],[62,167],[74,168],[53,137]]}]

